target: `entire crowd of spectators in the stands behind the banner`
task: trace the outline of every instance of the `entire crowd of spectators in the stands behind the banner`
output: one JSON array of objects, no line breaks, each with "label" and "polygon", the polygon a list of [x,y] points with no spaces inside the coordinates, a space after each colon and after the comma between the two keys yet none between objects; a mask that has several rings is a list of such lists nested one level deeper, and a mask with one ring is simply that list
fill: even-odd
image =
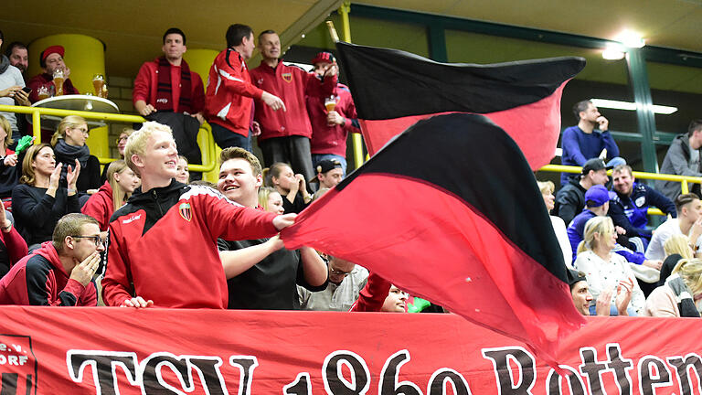
[{"label": "entire crowd of spectators in the stands behind the banner", "polygon": [[[64,118],[50,144],[17,153],[22,123],[0,116],[0,303],[408,311],[412,298],[391,279],[311,248],[289,251],[276,235],[346,176],[346,137],[359,124],[334,55],[317,54],[306,71],[282,61],[272,30],[256,37],[237,24],[225,37],[205,84],[183,58],[186,34],[166,30],[164,56],[145,62],[134,81],[134,108],[149,121],[120,134],[121,159],[102,172],[79,116]],[[261,64],[249,70],[256,46]],[[13,43],[5,54],[3,103],[28,105],[40,89],[55,90],[57,69],[63,90],[78,93],[64,48],[38,55],[43,72],[24,90],[27,48]],[[537,185],[576,308],[699,316],[702,201],[679,184],[657,183],[658,191],[638,182],[592,102],[576,103],[574,115],[561,162],[580,174],[564,173],[558,192],[550,181]],[[222,148],[217,185],[188,169],[200,163],[197,131],[206,122]],[[700,148],[702,121],[693,121],[662,173],[702,176]],[[667,215],[657,230],[648,208]],[[158,254],[146,252],[156,245]]]}]

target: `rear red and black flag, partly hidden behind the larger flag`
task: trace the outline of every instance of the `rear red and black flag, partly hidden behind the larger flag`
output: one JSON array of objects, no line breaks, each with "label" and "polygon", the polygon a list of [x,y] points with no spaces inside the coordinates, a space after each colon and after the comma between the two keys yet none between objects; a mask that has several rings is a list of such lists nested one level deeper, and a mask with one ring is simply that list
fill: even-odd
[{"label": "rear red and black flag, partly hidden behind the larger flag", "polygon": [[370,155],[420,119],[473,112],[504,129],[534,170],[556,152],[561,92],[585,67],[572,57],[476,65],[344,42],[336,47]]}]

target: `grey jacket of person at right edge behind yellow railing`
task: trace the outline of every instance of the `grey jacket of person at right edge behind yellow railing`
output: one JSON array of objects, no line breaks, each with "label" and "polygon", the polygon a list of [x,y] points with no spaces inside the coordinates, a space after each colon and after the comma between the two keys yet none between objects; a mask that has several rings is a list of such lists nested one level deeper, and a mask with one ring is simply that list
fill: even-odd
[{"label": "grey jacket of person at right edge behind yellow railing", "polygon": [[[665,154],[659,173],[678,176],[702,176],[702,169],[699,166],[690,168],[690,151],[687,133],[676,135],[670,144],[670,148],[668,148],[667,154]],[[700,164],[702,164],[702,154],[699,155]],[[678,197],[681,193],[680,183],[675,181],[655,180],[655,188],[672,201],[675,201],[675,197]],[[690,189],[692,191],[692,188]]]}]

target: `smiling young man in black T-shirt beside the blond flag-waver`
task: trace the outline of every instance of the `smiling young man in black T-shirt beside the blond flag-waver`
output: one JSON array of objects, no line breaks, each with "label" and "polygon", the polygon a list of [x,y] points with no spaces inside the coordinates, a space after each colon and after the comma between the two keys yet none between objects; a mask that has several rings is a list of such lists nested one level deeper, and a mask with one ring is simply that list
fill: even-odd
[{"label": "smiling young man in black T-shirt beside the blond flag-waver", "polygon": [[[219,155],[219,192],[247,208],[259,207],[263,177],[255,155],[230,147]],[[296,284],[311,291],[326,287],[327,271],[314,249],[282,248],[282,240],[218,240],[229,279],[229,308],[293,310],[300,308]]]}]

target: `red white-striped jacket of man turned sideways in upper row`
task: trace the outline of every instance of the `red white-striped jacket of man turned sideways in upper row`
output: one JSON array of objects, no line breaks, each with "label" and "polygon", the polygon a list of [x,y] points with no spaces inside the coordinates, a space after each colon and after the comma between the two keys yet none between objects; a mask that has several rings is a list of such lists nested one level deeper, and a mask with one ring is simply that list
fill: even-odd
[{"label": "red white-striped jacket of man turned sideways in upper row", "polygon": [[253,99],[261,99],[262,94],[263,91],[251,84],[249,69],[239,52],[232,48],[219,52],[207,77],[207,122],[248,136]]}]

